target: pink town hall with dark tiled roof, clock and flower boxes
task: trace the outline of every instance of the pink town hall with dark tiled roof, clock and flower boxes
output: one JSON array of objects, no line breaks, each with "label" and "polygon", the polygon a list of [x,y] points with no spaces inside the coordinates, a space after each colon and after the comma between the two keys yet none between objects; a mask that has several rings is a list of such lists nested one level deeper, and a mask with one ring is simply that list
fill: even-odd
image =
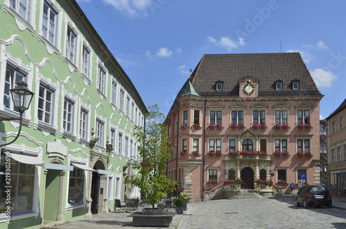
[{"label": "pink town hall with dark tiled roof, clock and flower boxes", "polygon": [[165,120],[167,176],[195,201],[226,179],[319,184],[321,98],[299,53],[203,55]]}]

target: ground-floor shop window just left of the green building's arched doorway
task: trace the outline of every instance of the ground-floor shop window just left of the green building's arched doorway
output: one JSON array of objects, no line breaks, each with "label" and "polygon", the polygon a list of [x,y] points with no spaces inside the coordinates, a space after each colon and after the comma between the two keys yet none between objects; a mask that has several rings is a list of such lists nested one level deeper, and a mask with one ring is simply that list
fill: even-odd
[{"label": "ground-floor shop window just left of the green building's arched doorway", "polygon": [[84,201],[84,170],[74,168],[70,171],[69,204],[80,205]]}]

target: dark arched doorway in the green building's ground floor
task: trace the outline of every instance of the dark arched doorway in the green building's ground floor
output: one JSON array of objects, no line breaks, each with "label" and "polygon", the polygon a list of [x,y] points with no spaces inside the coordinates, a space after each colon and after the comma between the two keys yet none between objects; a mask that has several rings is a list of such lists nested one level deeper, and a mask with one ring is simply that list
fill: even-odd
[{"label": "dark arched doorway in the green building's ground floor", "polygon": [[[104,170],[102,161],[97,161],[93,166],[93,170]],[[102,213],[103,196],[104,196],[104,174],[93,172],[91,177],[91,213]],[[102,181],[102,183],[101,183]],[[100,211],[99,211],[100,210]]]}]

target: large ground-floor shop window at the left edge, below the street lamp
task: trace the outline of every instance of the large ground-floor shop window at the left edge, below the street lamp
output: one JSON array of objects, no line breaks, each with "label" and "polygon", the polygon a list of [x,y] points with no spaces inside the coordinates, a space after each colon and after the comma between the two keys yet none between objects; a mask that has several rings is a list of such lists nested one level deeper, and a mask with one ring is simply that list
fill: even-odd
[{"label": "large ground-floor shop window at the left edge, below the street lamp", "polygon": [[[6,157],[6,158],[5,158]],[[10,183],[6,178],[6,161],[10,159]],[[1,194],[0,202],[2,205],[6,203],[8,194],[6,186],[10,186],[11,214],[32,212],[33,210],[33,194],[35,184],[35,165],[19,163],[12,158],[7,158],[5,154],[1,154],[0,160],[0,178],[1,178]],[[5,208],[0,208],[0,214],[5,214]]]}]

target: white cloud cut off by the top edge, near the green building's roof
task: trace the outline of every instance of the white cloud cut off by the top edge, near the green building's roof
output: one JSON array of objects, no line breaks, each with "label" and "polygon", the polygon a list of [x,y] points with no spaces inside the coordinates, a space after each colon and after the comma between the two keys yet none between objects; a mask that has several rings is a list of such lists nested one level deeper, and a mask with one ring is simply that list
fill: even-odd
[{"label": "white cloud cut off by the top edge, near the green building's roof", "polygon": [[102,0],[104,3],[109,4],[117,10],[124,12],[129,17],[139,15],[146,16],[147,8],[152,0]]}]

